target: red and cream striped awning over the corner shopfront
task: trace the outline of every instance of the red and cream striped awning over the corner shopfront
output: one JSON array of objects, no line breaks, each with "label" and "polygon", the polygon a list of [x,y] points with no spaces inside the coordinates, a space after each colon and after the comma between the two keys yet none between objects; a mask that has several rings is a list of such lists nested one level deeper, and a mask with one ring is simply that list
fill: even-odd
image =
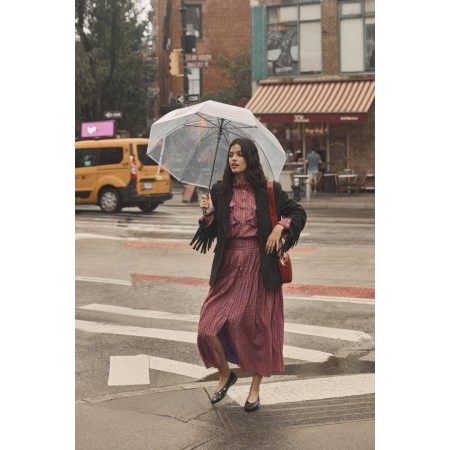
[{"label": "red and cream striped awning over the corner shopfront", "polygon": [[266,122],[365,121],[374,98],[374,80],[270,83],[260,85],[245,107]]}]

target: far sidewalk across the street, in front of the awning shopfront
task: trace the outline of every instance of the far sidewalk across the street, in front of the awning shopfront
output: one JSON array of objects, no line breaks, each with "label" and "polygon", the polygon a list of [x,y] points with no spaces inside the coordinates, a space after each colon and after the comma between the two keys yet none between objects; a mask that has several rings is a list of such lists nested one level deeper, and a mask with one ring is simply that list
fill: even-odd
[{"label": "far sidewalk across the street, in front of the awning shopfront", "polygon": [[[184,184],[172,181],[172,194],[173,197],[164,202],[167,206],[197,206],[197,200],[194,196],[194,201],[184,202]],[[197,188],[197,195],[201,195],[206,189]],[[293,193],[288,192],[293,198]],[[306,201],[306,198],[302,196],[299,203],[305,209],[354,209],[354,210],[367,210],[375,211],[375,193],[352,193],[352,194],[336,194],[328,192],[311,192],[310,201]]]}]

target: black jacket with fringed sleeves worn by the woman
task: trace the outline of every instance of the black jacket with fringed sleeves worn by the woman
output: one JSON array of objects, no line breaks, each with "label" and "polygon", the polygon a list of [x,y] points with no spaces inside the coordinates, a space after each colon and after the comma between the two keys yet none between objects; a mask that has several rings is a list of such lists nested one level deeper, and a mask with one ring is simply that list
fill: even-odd
[{"label": "black jacket with fringed sleeves worn by the woman", "polygon": [[[297,243],[300,237],[300,232],[306,224],[306,211],[301,205],[288,197],[286,192],[281,189],[280,183],[274,182],[273,188],[277,219],[280,220],[281,216],[291,219],[289,236],[282,246],[282,250],[287,251]],[[211,244],[217,237],[217,245],[214,250],[214,260],[209,279],[210,286],[215,284],[217,274],[222,265],[230,224],[231,196],[231,191],[221,192],[218,183],[213,185],[211,188],[211,199],[214,205],[214,220],[208,226],[204,226],[202,222],[199,222],[200,226],[191,241],[191,245],[194,246],[195,250],[206,253],[206,250],[210,249]],[[273,229],[270,219],[269,200],[267,198],[267,186],[262,186],[255,192],[255,200],[258,220],[261,278],[266,289],[275,289],[281,286],[280,274],[278,272],[278,257],[275,251],[270,255],[265,251],[267,239]]]}]

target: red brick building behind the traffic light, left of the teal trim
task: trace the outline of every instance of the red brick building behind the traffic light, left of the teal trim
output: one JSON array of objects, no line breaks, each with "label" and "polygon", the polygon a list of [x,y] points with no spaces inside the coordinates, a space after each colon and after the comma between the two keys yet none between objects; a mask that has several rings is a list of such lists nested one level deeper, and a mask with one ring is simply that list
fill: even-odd
[{"label": "red brick building behind the traffic light, left of the teal trim", "polygon": [[[170,54],[181,49],[182,17],[184,4],[186,35],[195,36],[195,53],[188,69],[188,93],[199,95],[201,99],[234,83],[227,79],[227,73],[219,67],[218,60],[230,58],[240,52],[250,53],[251,49],[251,8],[249,0],[154,0],[156,11],[156,54],[159,63],[159,105],[176,104],[177,96],[185,93],[184,77],[170,74]],[[207,66],[207,67],[206,67]],[[182,58],[180,56],[180,71]],[[245,102],[244,102],[245,104]],[[243,105],[242,105],[243,106]]]}]

